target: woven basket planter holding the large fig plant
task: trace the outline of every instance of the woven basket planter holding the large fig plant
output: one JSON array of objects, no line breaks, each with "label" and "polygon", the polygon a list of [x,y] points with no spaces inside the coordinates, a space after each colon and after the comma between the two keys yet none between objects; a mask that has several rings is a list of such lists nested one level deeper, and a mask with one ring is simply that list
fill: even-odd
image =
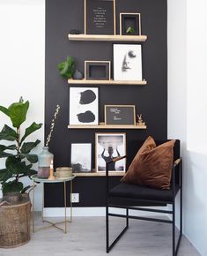
[{"label": "woven basket planter holding the large fig plant", "polygon": [[0,247],[17,247],[30,240],[30,213],[28,194],[23,194],[16,203],[0,206]]}]

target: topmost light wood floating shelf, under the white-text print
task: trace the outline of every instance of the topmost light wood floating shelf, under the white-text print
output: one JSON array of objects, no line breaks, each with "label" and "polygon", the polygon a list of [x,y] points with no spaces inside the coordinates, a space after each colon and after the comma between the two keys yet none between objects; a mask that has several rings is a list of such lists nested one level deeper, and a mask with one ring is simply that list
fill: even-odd
[{"label": "topmost light wood floating shelf, under the white-text print", "polygon": [[71,41],[146,41],[146,35],[69,34]]}]

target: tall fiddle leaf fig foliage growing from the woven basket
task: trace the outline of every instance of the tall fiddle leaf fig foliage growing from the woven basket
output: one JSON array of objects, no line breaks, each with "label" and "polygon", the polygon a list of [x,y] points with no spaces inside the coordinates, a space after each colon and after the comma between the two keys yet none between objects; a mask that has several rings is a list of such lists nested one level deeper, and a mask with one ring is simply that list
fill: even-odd
[{"label": "tall fiddle leaf fig foliage growing from the woven basket", "polygon": [[[4,124],[0,132],[0,160],[5,158],[5,168],[0,169],[0,184],[3,194],[6,192],[26,192],[31,186],[24,187],[20,182],[21,177],[31,177],[37,173],[33,168],[33,163],[38,161],[37,154],[31,151],[41,140],[25,141],[33,132],[39,130],[42,124],[33,122],[24,133],[21,133],[21,124],[26,121],[26,114],[29,109],[29,102],[24,102],[23,98],[19,102],[12,103],[9,108],[0,105],[0,111],[11,120],[12,127]],[[23,134],[23,136],[21,135]],[[1,144],[3,143],[4,144]]]}]

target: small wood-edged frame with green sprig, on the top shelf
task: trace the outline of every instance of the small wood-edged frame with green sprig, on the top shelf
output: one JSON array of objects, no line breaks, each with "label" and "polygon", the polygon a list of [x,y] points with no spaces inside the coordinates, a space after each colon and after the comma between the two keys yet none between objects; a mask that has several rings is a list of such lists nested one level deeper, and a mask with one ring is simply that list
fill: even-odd
[{"label": "small wood-edged frame with green sprig, on the top shelf", "polygon": [[120,34],[141,35],[141,14],[140,13],[120,13]]}]

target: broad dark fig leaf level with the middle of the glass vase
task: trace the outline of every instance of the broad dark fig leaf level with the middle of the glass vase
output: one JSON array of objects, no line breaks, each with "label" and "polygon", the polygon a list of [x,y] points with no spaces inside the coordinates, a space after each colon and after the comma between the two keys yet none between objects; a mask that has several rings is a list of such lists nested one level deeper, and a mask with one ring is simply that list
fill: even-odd
[{"label": "broad dark fig leaf level with the middle of the glass vase", "polygon": [[26,172],[26,162],[20,162],[14,155],[8,156],[5,162],[6,169],[12,174],[21,174]]}]

